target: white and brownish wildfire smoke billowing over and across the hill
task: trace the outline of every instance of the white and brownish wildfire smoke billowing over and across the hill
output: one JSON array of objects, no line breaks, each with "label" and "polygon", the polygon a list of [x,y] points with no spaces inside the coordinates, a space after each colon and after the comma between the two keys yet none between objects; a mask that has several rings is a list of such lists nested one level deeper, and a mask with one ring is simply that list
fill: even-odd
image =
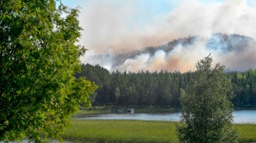
[{"label": "white and brownish wildfire smoke billowing over and across the hill", "polygon": [[[155,15],[148,23],[135,24],[143,13],[137,1],[89,1],[81,5],[80,23],[84,32],[80,44],[89,51],[82,63],[100,64],[110,71],[195,70],[197,60],[213,55],[215,63],[230,70],[256,68],[256,8],[246,0],[226,0],[207,5],[183,1],[166,15]],[[250,1],[253,3],[253,1]],[[142,15],[143,16],[143,15]],[[169,41],[188,35],[191,43]],[[228,40],[228,42],[225,42]],[[162,46],[158,46],[162,45]],[[155,47],[149,47],[155,46]],[[143,47],[148,47],[142,49]]]}]

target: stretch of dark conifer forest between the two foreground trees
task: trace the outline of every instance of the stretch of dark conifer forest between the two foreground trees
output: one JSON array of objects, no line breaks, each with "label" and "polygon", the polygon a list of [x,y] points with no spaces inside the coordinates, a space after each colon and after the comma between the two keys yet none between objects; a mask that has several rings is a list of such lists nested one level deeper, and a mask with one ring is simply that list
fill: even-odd
[{"label": "stretch of dark conifer forest between the two foreground trees", "polygon": [[[139,71],[109,73],[98,65],[82,64],[76,77],[86,76],[99,88],[94,105],[168,106],[179,108],[180,88],[191,83],[192,72],[181,74],[168,71]],[[119,89],[120,95],[115,93]]]}]

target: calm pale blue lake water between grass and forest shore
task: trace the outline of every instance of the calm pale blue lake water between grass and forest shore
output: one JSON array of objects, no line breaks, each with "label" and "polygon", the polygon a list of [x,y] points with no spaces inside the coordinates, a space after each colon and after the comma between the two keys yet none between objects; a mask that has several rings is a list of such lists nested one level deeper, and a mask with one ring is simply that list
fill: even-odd
[{"label": "calm pale blue lake water between grass and forest shore", "polygon": [[[101,114],[79,116],[75,119],[97,120],[161,120],[179,121],[180,112],[164,114]],[[233,112],[234,123],[256,123],[256,110],[239,110]]]}]

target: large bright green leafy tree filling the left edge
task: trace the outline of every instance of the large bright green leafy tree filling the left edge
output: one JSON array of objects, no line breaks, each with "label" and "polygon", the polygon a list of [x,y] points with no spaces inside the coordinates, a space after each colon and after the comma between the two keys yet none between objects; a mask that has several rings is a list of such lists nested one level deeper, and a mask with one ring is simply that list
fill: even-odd
[{"label": "large bright green leafy tree filling the left edge", "polygon": [[77,9],[56,1],[0,1],[0,141],[60,138],[96,85],[73,75],[85,49],[75,43]]}]

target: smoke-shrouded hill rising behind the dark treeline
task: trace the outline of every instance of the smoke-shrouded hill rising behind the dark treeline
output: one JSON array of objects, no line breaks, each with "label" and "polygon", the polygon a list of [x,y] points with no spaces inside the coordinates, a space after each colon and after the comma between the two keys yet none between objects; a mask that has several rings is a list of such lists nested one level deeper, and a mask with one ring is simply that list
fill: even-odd
[{"label": "smoke-shrouded hill rising behind the dark treeline", "polygon": [[168,70],[187,72],[195,69],[199,57],[211,53],[214,63],[225,64],[228,70],[256,68],[256,42],[238,34],[212,34],[210,37],[189,36],[168,44],[146,47],[122,54],[91,55],[89,63],[100,64],[109,71]]}]

